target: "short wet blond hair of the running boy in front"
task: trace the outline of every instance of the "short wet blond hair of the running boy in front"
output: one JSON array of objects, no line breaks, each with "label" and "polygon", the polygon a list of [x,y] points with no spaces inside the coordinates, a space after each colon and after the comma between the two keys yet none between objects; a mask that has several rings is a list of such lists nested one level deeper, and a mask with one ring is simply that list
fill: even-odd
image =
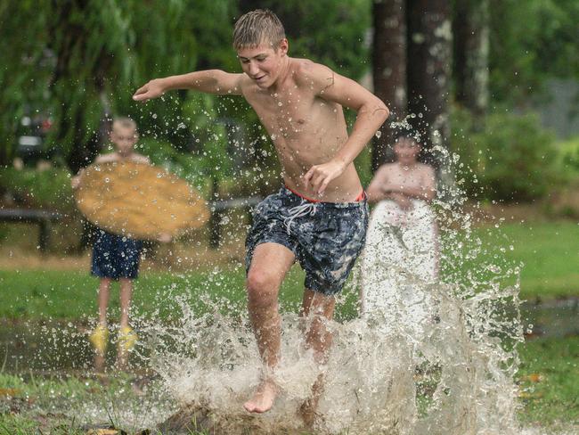
[{"label": "short wet blond hair of the running boy in front", "polygon": [[241,15],[233,29],[233,47],[236,50],[270,44],[277,50],[285,38],[283,24],[269,9],[257,9]]}]

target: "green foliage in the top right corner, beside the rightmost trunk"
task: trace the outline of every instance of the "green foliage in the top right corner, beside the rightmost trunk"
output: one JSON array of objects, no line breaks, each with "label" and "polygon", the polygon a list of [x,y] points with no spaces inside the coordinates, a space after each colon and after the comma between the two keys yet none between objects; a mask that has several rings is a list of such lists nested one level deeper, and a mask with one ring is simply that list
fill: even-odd
[{"label": "green foliage in the top right corner, beside the rightmost trunk", "polygon": [[546,78],[579,79],[579,2],[490,0],[491,94],[528,102]]}]

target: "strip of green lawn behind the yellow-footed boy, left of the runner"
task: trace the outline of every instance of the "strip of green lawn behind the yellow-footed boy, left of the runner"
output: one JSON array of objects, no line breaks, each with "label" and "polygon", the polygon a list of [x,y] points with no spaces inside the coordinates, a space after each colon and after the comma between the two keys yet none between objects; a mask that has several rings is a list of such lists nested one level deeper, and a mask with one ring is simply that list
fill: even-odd
[{"label": "strip of green lawn behind the yellow-footed boy, left of the runner", "polygon": [[[206,293],[212,299],[227,297],[242,300],[243,271],[143,273],[135,281],[136,315],[171,317],[175,314],[175,297],[184,295],[194,302]],[[0,317],[67,318],[96,314],[98,279],[86,271],[20,270],[0,271]],[[291,298],[289,298],[291,299]],[[110,308],[118,310],[118,284],[112,284]]]}]

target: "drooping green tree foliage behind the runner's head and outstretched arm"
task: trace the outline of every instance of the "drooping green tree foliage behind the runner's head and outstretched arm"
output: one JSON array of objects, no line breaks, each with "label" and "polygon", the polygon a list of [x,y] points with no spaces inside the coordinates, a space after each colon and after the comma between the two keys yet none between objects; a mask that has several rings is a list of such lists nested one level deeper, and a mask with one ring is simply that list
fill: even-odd
[{"label": "drooping green tree foliage behind the runner's head and outstretched arm", "polygon": [[[206,109],[212,105],[217,118],[249,124],[254,138],[263,135],[241,98],[211,97],[214,103],[208,103],[183,92],[146,104],[131,99],[135,88],[151,78],[208,68],[241,71],[231,41],[238,6],[237,0],[2,2],[0,37],[9,49],[0,65],[0,140],[5,144],[0,163],[12,156],[26,111],[42,111],[53,119],[48,146],[59,150],[73,171],[100,151],[106,113],[132,116],[143,137],[168,142],[181,152],[195,150],[194,130],[204,121],[201,111],[193,116],[191,109],[184,111],[198,103]],[[290,36],[296,35],[292,54],[361,76],[368,0],[264,6],[289,21]],[[213,152],[226,148],[220,145]]]}]

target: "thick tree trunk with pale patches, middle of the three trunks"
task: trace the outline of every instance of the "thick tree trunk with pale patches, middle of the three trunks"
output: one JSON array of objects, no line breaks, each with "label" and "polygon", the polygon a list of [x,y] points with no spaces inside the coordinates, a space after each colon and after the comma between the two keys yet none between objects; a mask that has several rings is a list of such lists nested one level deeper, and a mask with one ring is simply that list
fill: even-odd
[{"label": "thick tree trunk with pale patches, middle of the three trunks", "polygon": [[[448,149],[452,26],[448,0],[407,0],[408,110],[422,156],[436,168]],[[442,147],[442,149],[438,148]]]}]

